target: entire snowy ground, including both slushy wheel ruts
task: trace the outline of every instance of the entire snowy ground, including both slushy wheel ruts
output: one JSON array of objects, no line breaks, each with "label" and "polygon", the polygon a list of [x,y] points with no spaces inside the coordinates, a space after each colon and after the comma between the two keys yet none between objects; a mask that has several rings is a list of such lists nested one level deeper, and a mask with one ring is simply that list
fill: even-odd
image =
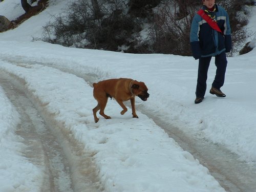
[{"label": "entire snowy ground, including both slushy wheel ruts", "polygon": [[[207,93],[195,105],[198,61],[192,57],[33,41],[69,1],[49,2],[0,34],[1,192],[256,191],[255,49],[228,58],[225,99]],[[22,15],[18,3],[2,1],[1,14],[9,20]],[[247,26],[253,32],[255,8]],[[208,87],[215,71],[212,59]],[[139,119],[121,116],[109,101],[113,118],[94,123],[89,85],[119,77],[145,82],[150,99],[136,100]]]}]

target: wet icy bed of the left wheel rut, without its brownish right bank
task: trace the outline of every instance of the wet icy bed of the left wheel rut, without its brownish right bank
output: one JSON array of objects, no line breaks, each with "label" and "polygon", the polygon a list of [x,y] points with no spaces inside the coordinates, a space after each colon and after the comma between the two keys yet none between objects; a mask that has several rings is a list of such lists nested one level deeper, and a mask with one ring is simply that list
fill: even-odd
[{"label": "wet icy bed of the left wheel rut, without its brownish right bank", "polygon": [[0,82],[20,114],[21,123],[18,124],[16,134],[22,137],[26,145],[23,155],[44,170],[42,191],[72,191],[69,165],[57,139],[50,133],[49,127],[25,93],[3,78],[3,75]]}]

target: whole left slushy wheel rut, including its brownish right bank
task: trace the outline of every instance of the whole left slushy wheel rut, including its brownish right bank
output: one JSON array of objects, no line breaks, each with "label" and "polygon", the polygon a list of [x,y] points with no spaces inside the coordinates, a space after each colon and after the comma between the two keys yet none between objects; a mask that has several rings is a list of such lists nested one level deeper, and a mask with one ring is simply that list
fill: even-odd
[{"label": "whole left slushy wheel rut, including its brownish right bank", "polygon": [[43,170],[41,191],[100,191],[90,154],[84,153],[68,133],[61,133],[59,127],[50,123],[49,114],[42,115],[36,109],[22,82],[0,74],[0,86],[20,114],[16,134],[26,146],[23,156]]}]

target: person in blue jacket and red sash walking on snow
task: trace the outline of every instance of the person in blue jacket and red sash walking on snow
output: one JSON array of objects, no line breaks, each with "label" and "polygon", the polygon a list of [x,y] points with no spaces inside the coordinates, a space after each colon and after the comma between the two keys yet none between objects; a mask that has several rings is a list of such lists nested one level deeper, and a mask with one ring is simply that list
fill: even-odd
[{"label": "person in blue jacket and red sash walking on snow", "polygon": [[215,0],[202,0],[203,6],[194,16],[190,29],[190,46],[193,57],[199,59],[195,103],[204,99],[207,73],[212,56],[215,56],[216,76],[210,94],[226,97],[220,90],[227,67],[226,52],[231,51],[229,17]]}]

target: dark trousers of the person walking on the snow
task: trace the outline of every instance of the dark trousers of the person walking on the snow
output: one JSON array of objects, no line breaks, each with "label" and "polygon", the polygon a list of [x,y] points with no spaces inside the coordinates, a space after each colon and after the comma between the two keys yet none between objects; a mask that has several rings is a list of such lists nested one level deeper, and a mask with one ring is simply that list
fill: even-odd
[{"label": "dark trousers of the person walking on the snow", "polygon": [[[210,65],[210,57],[201,57],[199,59],[198,65],[198,77],[197,77],[197,89],[196,89],[196,97],[204,97],[206,92],[206,80],[207,80],[207,73]],[[212,82],[212,87],[216,89],[220,89],[225,80],[225,73],[227,68],[227,57],[226,52],[223,51],[221,54],[215,56],[215,65],[216,75],[214,82]]]}]

